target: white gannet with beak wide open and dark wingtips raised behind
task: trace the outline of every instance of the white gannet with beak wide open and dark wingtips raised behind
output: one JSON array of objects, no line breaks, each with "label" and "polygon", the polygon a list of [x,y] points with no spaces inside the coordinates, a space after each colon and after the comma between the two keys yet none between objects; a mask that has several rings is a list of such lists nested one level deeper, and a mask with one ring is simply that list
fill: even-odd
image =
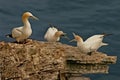
[{"label": "white gannet with beak wide open and dark wingtips raised behind", "polygon": [[102,42],[104,36],[107,36],[107,34],[93,35],[85,41],[83,41],[81,36],[76,35],[75,33],[73,33],[73,35],[75,39],[71,40],[71,42],[77,41],[77,47],[83,53],[96,52],[101,46],[108,45],[107,43]]}]

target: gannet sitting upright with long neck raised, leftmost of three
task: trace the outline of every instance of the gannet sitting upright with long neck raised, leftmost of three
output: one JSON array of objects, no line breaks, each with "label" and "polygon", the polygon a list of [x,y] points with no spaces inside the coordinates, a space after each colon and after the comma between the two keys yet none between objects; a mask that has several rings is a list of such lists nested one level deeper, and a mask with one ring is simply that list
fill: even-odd
[{"label": "gannet sitting upright with long neck raised, leftmost of three", "polygon": [[37,17],[33,16],[30,12],[25,12],[22,15],[23,26],[16,27],[12,29],[12,34],[6,35],[7,37],[11,37],[16,39],[17,42],[23,42],[32,34],[31,24],[29,22],[29,17],[38,20]]}]

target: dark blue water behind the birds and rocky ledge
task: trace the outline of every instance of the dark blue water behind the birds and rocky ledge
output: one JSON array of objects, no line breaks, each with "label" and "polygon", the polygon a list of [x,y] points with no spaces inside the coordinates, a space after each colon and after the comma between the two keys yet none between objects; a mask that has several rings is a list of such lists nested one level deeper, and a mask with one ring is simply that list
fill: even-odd
[{"label": "dark blue water behind the birds and rocky ledge", "polygon": [[[120,0],[0,0],[0,41],[13,41],[5,37],[11,29],[21,26],[22,13],[30,11],[39,21],[30,20],[33,34],[30,38],[43,41],[49,23],[56,25],[72,39],[72,32],[84,39],[99,33],[112,33],[99,49],[108,55],[118,56],[110,66],[109,74],[91,74],[92,80],[120,80]],[[62,43],[69,43],[61,39]]]}]

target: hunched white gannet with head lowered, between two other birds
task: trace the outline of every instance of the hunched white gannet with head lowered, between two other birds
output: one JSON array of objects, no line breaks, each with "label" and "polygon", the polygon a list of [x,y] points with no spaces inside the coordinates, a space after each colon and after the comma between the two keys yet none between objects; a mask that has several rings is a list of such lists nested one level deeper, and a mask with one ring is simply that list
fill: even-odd
[{"label": "hunched white gannet with head lowered, between two other birds", "polygon": [[61,36],[65,35],[66,33],[63,31],[58,31],[58,29],[55,27],[49,27],[44,35],[44,39],[46,39],[48,42],[56,42],[60,40]]}]

